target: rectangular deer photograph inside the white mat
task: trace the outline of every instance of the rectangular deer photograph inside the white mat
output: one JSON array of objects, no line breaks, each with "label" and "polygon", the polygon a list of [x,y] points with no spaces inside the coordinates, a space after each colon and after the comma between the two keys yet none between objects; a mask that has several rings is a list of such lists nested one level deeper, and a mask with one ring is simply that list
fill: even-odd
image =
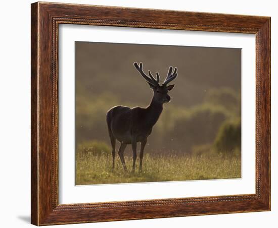
[{"label": "rectangular deer photograph inside the white mat", "polygon": [[75,185],[241,178],[241,49],[75,42]]}]

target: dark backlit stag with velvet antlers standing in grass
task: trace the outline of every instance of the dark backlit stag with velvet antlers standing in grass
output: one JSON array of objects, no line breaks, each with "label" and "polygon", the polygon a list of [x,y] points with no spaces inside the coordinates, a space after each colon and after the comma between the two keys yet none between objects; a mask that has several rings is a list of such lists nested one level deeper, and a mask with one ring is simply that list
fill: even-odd
[{"label": "dark backlit stag with velvet antlers standing in grass", "polygon": [[146,108],[115,106],[107,112],[106,121],[112,145],[112,172],[115,167],[116,139],[121,143],[118,153],[125,171],[127,171],[127,169],[125,166],[123,152],[127,144],[132,145],[133,172],[135,169],[137,157],[137,142],[141,142],[140,171],[142,171],[143,154],[145,145],[147,143],[147,138],[151,134],[153,126],[158,121],[158,118],[163,110],[163,103],[169,102],[171,100],[168,92],[173,89],[174,85],[167,86],[167,84],[177,77],[177,68],[175,68],[173,71],[173,67],[170,67],[168,75],[163,84],[159,85],[160,77],[158,72],[156,72],[155,79],[150,71],[148,71],[149,76],[144,73],[142,63],[138,65],[135,62],[134,67],[150,85],[154,94],[151,103]]}]

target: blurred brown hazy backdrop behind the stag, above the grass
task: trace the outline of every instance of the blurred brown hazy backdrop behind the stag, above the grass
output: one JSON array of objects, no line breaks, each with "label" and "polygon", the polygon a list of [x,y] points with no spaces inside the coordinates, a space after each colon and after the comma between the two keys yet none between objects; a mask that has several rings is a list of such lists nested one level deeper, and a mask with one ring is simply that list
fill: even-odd
[{"label": "blurred brown hazy backdrop behind the stag, above the grass", "polygon": [[[146,152],[240,152],[241,49],[75,42],[76,147],[110,148],[106,112],[115,105],[147,106],[152,90],[133,63],[160,73],[178,68]],[[125,154],[131,154],[127,147]]]}]

